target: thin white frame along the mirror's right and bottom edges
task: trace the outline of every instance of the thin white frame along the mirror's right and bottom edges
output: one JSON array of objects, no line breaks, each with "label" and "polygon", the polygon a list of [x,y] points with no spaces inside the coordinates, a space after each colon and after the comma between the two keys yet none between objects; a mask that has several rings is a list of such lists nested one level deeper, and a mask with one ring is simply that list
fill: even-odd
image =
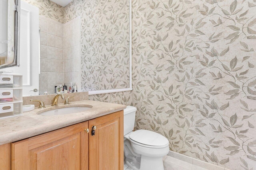
[{"label": "thin white frame along the mirror's right and bottom edges", "polygon": [[129,88],[88,91],[89,95],[126,92],[132,90],[132,0],[129,0]]}]

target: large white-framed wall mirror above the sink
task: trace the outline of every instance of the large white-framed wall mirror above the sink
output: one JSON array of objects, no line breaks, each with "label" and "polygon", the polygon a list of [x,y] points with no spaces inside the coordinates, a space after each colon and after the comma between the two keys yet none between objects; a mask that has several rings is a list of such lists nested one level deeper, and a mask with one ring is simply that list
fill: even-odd
[{"label": "large white-framed wall mirror above the sink", "polygon": [[20,67],[4,70],[24,96],[132,90],[131,0],[70,1],[21,0]]}]

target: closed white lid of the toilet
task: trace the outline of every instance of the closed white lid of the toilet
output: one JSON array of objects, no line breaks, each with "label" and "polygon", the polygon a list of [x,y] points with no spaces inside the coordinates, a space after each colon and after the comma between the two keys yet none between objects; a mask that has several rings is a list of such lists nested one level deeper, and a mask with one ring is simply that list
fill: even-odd
[{"label": "closed white lid of the toilet", "polygon": [[166,147],[169,145],[168,139],[163,135],[148,130],[137,130],[130,135],[130,139],[142,145],[151,147]]}]

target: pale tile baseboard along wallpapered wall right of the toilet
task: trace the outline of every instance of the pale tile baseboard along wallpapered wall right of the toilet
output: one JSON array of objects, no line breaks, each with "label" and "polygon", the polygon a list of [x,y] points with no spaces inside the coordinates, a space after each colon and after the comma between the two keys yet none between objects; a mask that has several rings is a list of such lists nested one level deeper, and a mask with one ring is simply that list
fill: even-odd
[{"label": "pale tile baseboard along wallpapered wall right of the toilet", "polygon": [[200,166],[200,167],[208,169],[208,170],[230,170],[228,168],[223,168],[221,166],[217,166],[217,165],[211,164],[209,162],[204,162],[204,161],[196,159],[196,158],[191,158],[190,156],[186,156],[184,154],[173,152],[171,150],[169,151],[169,153],[167,155],[171,156],[173,158],[182,160],[184,162],[188,162],[190,164]]}]

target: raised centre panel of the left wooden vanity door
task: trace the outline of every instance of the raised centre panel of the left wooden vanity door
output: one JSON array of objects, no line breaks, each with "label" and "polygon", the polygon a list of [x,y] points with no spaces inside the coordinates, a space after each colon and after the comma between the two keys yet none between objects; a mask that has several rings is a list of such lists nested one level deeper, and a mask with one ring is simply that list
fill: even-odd
[{"label": "raised centre panel of the left wooden vanity door", "polygon": [[[30,169],[79,170],[80,134],[29,151]],[[56,161],[58,160],[58,163]]]}]

